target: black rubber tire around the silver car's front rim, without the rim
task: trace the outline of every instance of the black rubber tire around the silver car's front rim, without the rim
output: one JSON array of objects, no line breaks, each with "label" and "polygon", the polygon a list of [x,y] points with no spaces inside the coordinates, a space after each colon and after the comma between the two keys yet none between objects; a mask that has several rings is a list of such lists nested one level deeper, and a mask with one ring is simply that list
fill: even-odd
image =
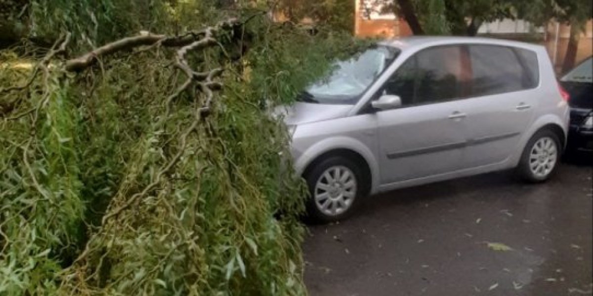
[{"label": "black rubber tire around the silver car's front rim, without the rim", "polygon": [[[324,173],[332,168],[337,167],[347,168],[350,170],[350,172],[352,172],[353,179],[355,179],[355,189],[350,191],[353,192],[353,198],[349,206],[344,211],[342,211],[342,213],[329,215],[324,213],[320,206],[317,205],[317,202],[315,202],[315,186],[317,185],[317,182],[320,181],[320,178],[322,178]],[[309,194],[307,197],[307,202],[305,203],[307,207],[307,216],[305,218],[309,223],[330,223],[344,220],[356,211],[356,208],[366,194],[366,191],[368,191],[366,189],[368,188],[368,184],[365,184],[368,182],[366,182],[359,165],[357,165],[356,162],[353,162],[352,160],[342,156],[330,156],[321,160],[320,162],[315,163],[313,167],[305,174],[304,178],[305,181],[307,181]]]}]

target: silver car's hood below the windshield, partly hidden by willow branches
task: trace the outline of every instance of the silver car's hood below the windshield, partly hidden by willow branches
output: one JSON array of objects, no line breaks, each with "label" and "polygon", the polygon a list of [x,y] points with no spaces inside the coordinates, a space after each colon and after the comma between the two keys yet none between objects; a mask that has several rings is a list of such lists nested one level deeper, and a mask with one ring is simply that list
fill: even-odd
[{"label": "silver car's hood below the windshield, partly hidden by willow branches", "polygon": [[284,118],[288,125],[298,125],[344,117],[352,107],[353,105],[296,102],[290,106],[277,107],[274,115]]}]

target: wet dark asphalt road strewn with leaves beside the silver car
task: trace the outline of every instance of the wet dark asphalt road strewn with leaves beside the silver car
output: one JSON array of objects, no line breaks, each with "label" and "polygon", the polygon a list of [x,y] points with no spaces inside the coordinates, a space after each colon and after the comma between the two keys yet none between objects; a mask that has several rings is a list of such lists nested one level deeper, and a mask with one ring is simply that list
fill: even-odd
[{"label": "wet dark asphalt road strewn with leaves beside the silver car", "polygon": [[305,283],[313,296],[591,295],[591,175],[563,163],[546,184],[499,172],[371,197],[309,227]]}]

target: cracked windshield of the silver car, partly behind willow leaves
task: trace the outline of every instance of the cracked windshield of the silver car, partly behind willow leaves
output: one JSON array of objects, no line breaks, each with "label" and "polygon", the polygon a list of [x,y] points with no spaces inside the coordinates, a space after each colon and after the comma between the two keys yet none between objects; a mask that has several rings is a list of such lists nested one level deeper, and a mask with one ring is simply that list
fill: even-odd
[{"label": "cracked windshield of the silver car, partly behind willow leaves", "polygon": [[377,46],[336,62],[329,77],[309,86],[302,99],[321,104],[356,104],[398,53],[394,47]]}]

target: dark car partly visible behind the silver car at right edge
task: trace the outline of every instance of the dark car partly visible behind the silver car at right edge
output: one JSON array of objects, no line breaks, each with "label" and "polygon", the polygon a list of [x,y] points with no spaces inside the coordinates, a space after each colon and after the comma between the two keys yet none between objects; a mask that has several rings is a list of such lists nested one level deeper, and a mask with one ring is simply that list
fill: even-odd
[{"label": "dark car partly visible behind the silver car at right edge", "polygon": [[568,149],[593,152],[593,57],[560,79],[570,96]]}]

